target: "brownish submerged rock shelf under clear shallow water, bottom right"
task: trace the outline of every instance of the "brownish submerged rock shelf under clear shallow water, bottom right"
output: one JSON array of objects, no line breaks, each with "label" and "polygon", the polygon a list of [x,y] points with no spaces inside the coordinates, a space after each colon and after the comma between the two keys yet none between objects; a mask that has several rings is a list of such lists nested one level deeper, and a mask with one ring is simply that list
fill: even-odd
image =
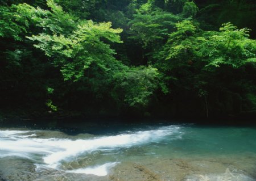
[{"label": "brownish submerged rock shelf under clear shallow water, bottom right", "polygon": [[123,162],[113,168],[112,181],[255,181],[250,174],[223,160],[158,159]]}]

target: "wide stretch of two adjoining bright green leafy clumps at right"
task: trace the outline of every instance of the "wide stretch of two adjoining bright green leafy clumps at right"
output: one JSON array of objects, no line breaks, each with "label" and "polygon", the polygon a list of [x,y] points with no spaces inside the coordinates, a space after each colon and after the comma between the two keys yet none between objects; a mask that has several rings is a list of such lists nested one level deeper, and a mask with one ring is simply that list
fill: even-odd
[{"label": "wide stretch of two adjoining bright green leafy clumps at right", "polygon": [[256,41],[248,38],[247,28],[239,30],[233,24],[226,23],[220,32],[196,34],[199,30],[189,20],[177,23],[176,28],[177,31],[171,33],[164,49],[164,52],[168,52],[166,60],[184,60],[186,56],[192,56],[207,62],[206,66],[227,64],[234,68],[254,61]]}]

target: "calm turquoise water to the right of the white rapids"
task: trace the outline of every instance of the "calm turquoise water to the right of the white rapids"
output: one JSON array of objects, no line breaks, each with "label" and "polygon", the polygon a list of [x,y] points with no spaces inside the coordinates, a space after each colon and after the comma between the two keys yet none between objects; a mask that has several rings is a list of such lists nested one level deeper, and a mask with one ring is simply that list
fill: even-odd
[{"label": "calm turquoise water to the right of the white rapids", "polygon": [[188,154],[228,154],[256,151],[255,128],[194,126],[183,127],[180,132],[183,133],[182,138],[172,141],[169,144],[170,149],[177,147]]}]

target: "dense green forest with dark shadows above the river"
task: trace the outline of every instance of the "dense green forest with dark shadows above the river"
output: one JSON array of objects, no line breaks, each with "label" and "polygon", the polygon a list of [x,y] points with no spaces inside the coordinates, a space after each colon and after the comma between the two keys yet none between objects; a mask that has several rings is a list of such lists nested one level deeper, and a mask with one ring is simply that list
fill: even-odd
[{"label": "dense green forest with dark shadows above the river", "polygon": [[0,0],[0,119],[256,115],[254,0]]}]

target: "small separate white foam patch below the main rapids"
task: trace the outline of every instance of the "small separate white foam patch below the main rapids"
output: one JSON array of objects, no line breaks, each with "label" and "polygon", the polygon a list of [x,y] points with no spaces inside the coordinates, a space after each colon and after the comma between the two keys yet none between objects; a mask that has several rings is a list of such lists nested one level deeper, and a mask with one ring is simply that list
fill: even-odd
[{"label": "small separate white foam patch below the main rapids", "polygon": [[92,174],[97,176],[106,176],[110,169],[112,169],[119,162],[110,162],[105,163],[104,165],[88,167],[83,169],[72,170],[68,172],[76,173],[76,174]]}]

